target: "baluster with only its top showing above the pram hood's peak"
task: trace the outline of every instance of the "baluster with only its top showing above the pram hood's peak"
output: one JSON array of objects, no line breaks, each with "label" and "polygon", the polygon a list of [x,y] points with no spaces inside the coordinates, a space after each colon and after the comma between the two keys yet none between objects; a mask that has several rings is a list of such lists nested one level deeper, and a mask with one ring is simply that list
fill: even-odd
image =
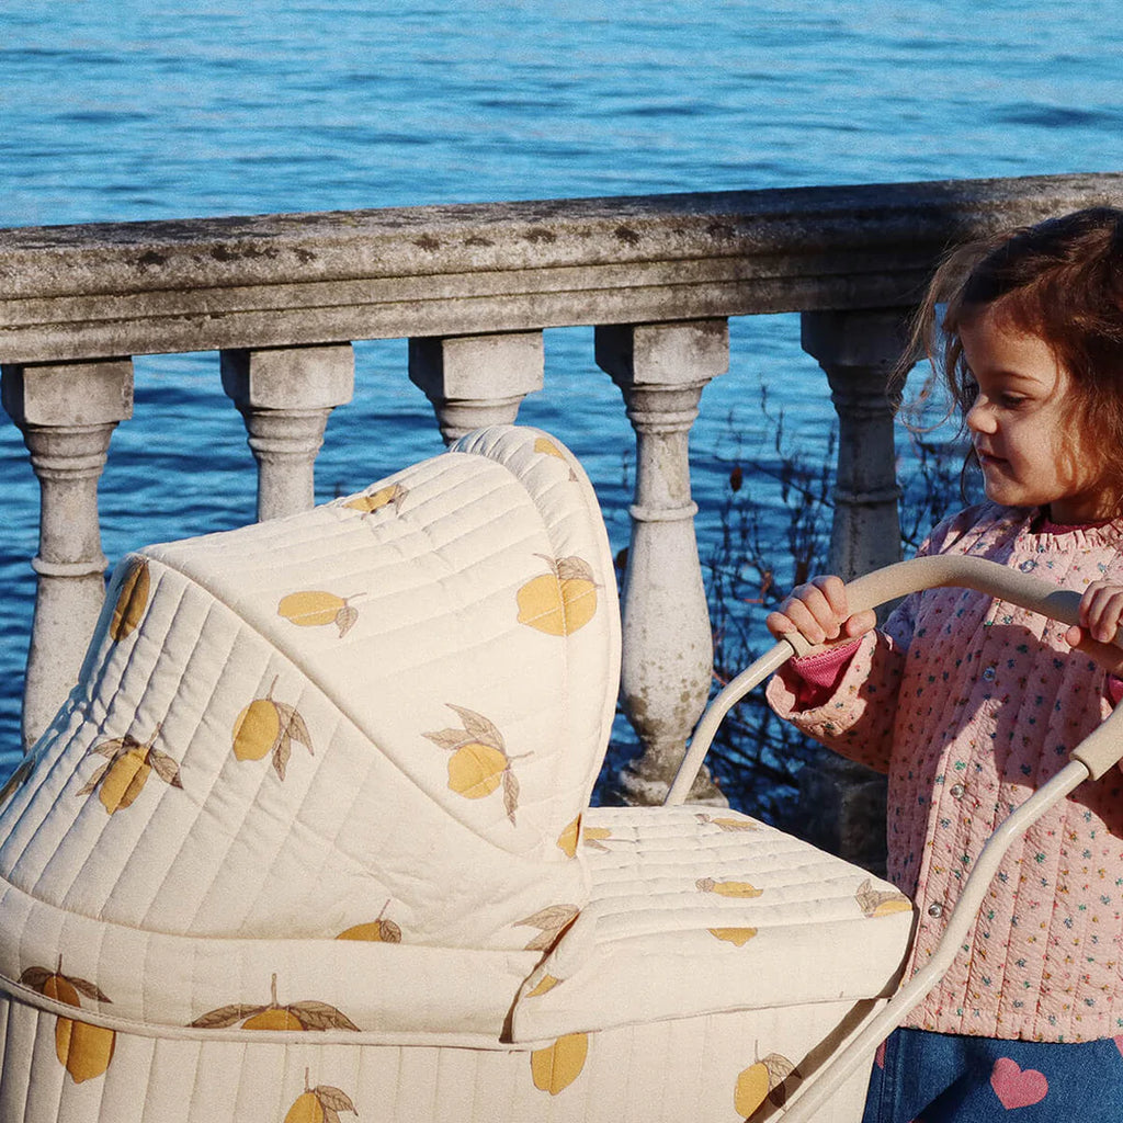
[{"label": "baluster with only its top showing above the pram hood's peak", "polygon": [[510,424],[542,389],[541,331],[410,340],[410,381],[432,402],[447,444],[487,424]]}]

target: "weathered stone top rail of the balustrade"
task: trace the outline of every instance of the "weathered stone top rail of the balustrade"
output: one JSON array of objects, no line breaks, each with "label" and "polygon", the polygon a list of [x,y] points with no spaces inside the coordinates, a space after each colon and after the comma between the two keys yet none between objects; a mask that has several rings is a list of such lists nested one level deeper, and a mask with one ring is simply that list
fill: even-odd
[{"label": "weathered stone top rail of the balustrade", "polygon": [[907,305],[955,241],[1121,201],[1107,174],[4,230],[0,362]]}]

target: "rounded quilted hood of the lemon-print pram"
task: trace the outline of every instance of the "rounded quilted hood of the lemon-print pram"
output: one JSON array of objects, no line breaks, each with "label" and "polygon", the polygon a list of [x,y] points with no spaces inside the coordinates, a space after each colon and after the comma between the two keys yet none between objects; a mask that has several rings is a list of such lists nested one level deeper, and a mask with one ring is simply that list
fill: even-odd
[{"label": "rounded quilted hood of the lemon-print pram", "polygon": [[130,1023],[494,1040],[587,898],[615,595],[579,465],[511,427],[126,558],[0,810],[0,974]]}]

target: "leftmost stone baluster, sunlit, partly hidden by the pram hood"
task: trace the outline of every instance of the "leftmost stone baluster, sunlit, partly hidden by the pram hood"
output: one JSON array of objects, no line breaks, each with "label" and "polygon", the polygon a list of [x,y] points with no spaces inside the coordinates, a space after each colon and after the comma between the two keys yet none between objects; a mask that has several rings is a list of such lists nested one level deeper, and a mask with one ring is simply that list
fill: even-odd
[{"label": "leftmost stone baluster, sunlit, partly hidden by the pram hood", "polygon": [[35,620],[24,687],[24,746],[77,682],[106,599],[98,480],[119,421],[133,416],[133,360],[3,367],[3,407],[39,480]]}]

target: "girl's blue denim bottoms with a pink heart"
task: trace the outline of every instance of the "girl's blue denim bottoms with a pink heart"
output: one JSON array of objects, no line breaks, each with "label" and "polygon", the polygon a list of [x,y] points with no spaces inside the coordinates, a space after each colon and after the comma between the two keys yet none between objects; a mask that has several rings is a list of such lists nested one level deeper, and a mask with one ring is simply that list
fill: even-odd
[{"label": "girl's blue denim bottoms with a pink heart", "polygon": [[1123,1037],[1076,1044],[896,1030],[862,1123],[1120,1123]]}]

